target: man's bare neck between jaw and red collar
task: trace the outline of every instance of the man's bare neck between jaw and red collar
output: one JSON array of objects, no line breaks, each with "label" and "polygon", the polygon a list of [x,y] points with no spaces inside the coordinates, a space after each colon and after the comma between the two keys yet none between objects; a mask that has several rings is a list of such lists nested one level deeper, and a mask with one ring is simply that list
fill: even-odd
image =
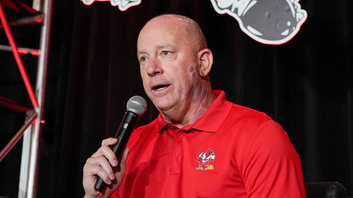
[{"label": "man's bare neck between jaw and red collar", "polygon": [[163,120],[181,129],[200,119],[215,99],[216,96],[210,86],[199,88],[192,94],[189,104],[185,104],[185,109],[161,112]]}]

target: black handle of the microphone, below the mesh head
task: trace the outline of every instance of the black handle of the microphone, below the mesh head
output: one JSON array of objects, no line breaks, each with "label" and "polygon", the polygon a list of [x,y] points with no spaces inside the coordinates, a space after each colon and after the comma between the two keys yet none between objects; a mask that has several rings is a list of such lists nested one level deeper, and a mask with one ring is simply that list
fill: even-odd
[{"label": "black handle of the microphone, below the mesh head", "polygon": [[[137,113],[127,110],[122,122],[120,123],[120,127],[115,134],[115,138],[118,138],[119,141],[117,144],[109,146],[110,149],[116,155],[119,164],[123,156],[127,141],[130,138],[132,131],[136,128],[136,125],[139,119],[140,119],[140,116]],[[104,186],[105,186],[105,183],[103,179],[101,179],[101,177],[97,175],[95,189],[99,192],[102,192]]]}]

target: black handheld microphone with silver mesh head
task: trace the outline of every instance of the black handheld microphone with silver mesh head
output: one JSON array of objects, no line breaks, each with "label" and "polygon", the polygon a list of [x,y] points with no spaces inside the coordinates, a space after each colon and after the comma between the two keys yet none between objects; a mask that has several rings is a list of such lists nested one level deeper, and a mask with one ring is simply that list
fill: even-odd
[{"label": "black handheld microphone with silver mesh head", "polygon": [[[147,102],[141,96],[132,96],[126,105],[126,112],[123,117],[122,122],[120,123],[120,127],[115,134],[115,138],[118,138],[118,143],[116,145],[109,146],[110,149],[117,156],[118,162],[123,156],[123,152],[125,150],[126,144],[132,131],[136,128],[137,122],[140,119],[140,116],[143,115],[147,110]],[[102,192],[104,188],[104,181],[100,176],[97,175],[97,181],[95,185],[95,189],[99,192]]]}]

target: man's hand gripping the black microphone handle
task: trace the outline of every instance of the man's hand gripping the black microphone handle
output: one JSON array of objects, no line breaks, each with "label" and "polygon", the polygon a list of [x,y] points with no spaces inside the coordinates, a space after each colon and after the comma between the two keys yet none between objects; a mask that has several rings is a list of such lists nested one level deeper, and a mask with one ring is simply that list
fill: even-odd
[{"label": "man's hand gripping the black microphone handle", "polygon": [[[116,143],[118,143],[118,139],[116,138],[103,140],[101,148],[87,159],[83,167],[83,188],[86,192],[85,198],[108,197],[120,186],[125,174],[128,148],[124,151],[120,166],[117,166],[118,160],[113,151],[108,147]],[[100,176],[107,184],[103,192],[96,191],[94,188],[97,181],[96,175]]]}]

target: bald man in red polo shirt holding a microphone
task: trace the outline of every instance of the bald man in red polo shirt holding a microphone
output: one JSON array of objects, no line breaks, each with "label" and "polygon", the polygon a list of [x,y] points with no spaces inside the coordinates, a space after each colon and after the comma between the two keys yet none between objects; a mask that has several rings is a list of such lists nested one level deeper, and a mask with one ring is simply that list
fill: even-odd
[{"label": "bald man in red polo shirt holding a microphone", "polygon": [[[108,147],[117,139],[103,140],[83,168],[85,197],[305,197],[300,159],[282,128],[212,91],[213,56],[196,22],[153,18],[139,34],[137,56],[160,114],[132,133],[119,167]],[[107,184],[102,193],[96,175]]]}]

